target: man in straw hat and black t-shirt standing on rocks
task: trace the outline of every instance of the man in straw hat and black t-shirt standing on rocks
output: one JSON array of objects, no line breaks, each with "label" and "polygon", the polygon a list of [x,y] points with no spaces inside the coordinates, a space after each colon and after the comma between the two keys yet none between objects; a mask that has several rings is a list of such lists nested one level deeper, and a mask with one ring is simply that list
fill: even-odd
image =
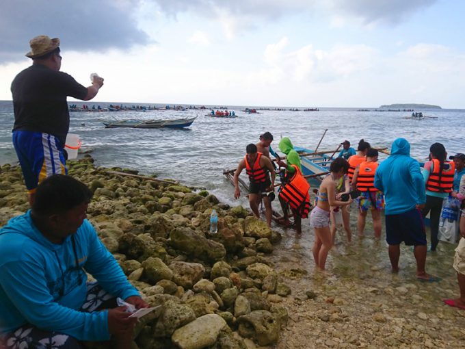
[{"label": "man in straw hat and black t-shirt standing on rocks", "polygon": [[67,174],[64,145],[70,116],[67,96],[89,101],[103,86],[94,77],[85,88],[62,73],[59,39],[45,35],[29,41],[26,57],[32,65],[16,75],[11,91],[14,107],[13,145],[25,179],[29,203],[34,202],[38,183],[52,174]]}]

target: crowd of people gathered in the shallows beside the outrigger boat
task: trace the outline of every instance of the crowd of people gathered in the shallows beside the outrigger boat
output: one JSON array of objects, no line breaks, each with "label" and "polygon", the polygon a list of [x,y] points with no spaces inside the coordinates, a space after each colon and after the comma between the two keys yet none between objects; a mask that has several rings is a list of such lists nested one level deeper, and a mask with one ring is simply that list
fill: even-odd
[{"label": "crowd of people gathered in the shallows beside the outrigger boat", "polygon": [[[271,148],[273,136],[260,136],[260,142],[248,144],[245,157],[235,171],[233,183],[235,198],[239,198],[239,174],[245,169],[250,181],[249,203],[254,216],[260,216],[263,201],[267,224],[271,226],[271,201],[274,200],[274,181],[280,174],[278,198],[283,215],[278,222],[289,227],[293,216],[297,235],[302,233],[302,218],[310,213],[310,229],[315,231],[313,257],[318,270],[326,269],[326,259],[336,237],[337,226],[343,226],[347,242],[351,242],[350,208],[357,211],[356,229],[364,236],[367,215],[373,220],[374,237],[382,235],[381,213],[386,218],[386,242],[393,272],[399,271],[400,244],[412,246],[416,260],[416,279],[435,282],[440,278],[427,274],[427,252],[435,253],[442,241],[457,242],[465,237],[465,155],[447,156],[443,144],[429,148],[429,160],[423,167],[410,157],[410,144],[404,138],[393,142],[390,155],[378,164],[378,151],[369,142],[360,140],[357,149],[345,140],[343,150],[331,161],[328,174],[323,178],[315,201],[310,205],[310,185],[302,174],[300,155],[293,149],[289,138],[282,138],[278,147],[285,157]],[[271,155],[277,166],[272,165]],[[283,159],[286,161],[283,161]],[[461,210],[462,209],[462,210]],[[427,237],[424,219],[429,214],[430,237]],[[440,231],[440,221],[450,223]],[[442,219],[442,220],[441,220]],[[460,298],[444,300],[447,305],[465,309],[465,238],[456,248],[453,268],[457,272]],[[434,254],[431,254],[434,256]]]}]

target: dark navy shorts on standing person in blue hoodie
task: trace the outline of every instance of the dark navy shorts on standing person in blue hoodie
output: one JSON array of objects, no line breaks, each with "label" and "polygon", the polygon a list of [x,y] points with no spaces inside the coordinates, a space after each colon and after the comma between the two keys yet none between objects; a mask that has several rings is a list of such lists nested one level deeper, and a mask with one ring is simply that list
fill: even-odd
[{"label": "dark navy shorts on standing person in blue hoodie", "polygon": [[386,242],[408,246],[426,245],[425,224],[419,209],[403,214],[386,214]]}]

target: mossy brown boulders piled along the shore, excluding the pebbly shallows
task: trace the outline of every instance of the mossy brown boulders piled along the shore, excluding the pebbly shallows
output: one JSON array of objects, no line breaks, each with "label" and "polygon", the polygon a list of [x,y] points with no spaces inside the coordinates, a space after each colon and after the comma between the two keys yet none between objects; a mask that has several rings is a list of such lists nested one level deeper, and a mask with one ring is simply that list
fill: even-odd
[{"label": "mossy brown boulders piled along the shore, excluding the pebbly shallows", "polygon": [[[133,348],[254,348],[287,324],[291,293],[263,257],[280,234],[207,191],[175,181],[112,174],[92,157],[69,174],[94,192],[88,219],[144,299],[161,305],[137,326]],[[120,168],[111,170],[123,171]],[[21,169],[1,167],[0,224],[28,209]],[[218,233],[209,233],[218,213]],[[98,344],[95,345],[99,347]]]}]

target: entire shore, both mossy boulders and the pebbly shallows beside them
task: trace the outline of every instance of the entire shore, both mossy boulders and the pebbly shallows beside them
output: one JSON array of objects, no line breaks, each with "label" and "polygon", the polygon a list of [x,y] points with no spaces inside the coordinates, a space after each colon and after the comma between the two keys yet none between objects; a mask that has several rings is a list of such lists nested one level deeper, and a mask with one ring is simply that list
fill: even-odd
[{"label": "entire shore, both mossy boulders and the pebbly shallows beside them", "polygon": [[[134,348],[465,346],[465,311],[442,303],[458,292],[452,245],[427,257],[439,283],[416,281],[404,247],[401,272],[390,274],[385,242],[369,233],[333,248],[331,273],[321,274],[306,221],[295,237],[206,191],[93,162],[70,163],[70,174],[94,191],[88,219],[131,283],[161,305],[137,326]],[[0,175],[1,226],[28,204],[21,170],[4,165]]]}]

